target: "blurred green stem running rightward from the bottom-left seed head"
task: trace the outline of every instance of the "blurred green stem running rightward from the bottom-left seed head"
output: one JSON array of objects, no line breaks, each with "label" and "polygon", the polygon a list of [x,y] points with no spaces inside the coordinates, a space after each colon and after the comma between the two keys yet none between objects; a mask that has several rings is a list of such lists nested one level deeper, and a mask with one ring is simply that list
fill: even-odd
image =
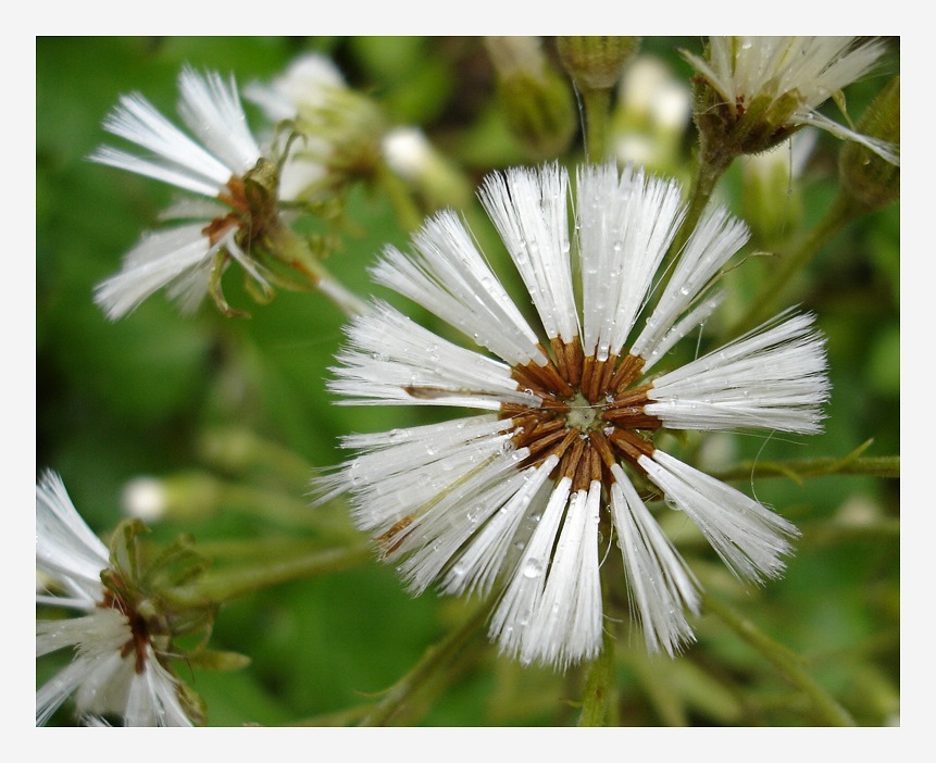
[{"label": "blurred green stem running rightward from the bottom-left seed head", "polygon": [[173,589],[170,597],[180,606],[222,603],[270,586],[348,570],[371,559],[370,543],[324,551],[316,548],[291,558],[280,556],[262,564],[211,573],[197,583]]}]

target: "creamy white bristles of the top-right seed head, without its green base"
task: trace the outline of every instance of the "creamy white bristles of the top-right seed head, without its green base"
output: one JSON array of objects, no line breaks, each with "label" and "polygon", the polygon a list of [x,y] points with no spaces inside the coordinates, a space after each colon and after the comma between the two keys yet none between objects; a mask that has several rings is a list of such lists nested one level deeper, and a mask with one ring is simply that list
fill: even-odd
[{"label": "creamy white bristles of the top-right seed head, without its green base", "polygon": [[[814,125],[899,164],[896,147],[816,111],[833,93],[869,74],[884,51],[882,40],[859,37],[710,37],[702,58],[684,54],[733,118],[757,101],[765,115],[781,109],[785,126]],[[789,99],[791,108],[783,102]]]}]

